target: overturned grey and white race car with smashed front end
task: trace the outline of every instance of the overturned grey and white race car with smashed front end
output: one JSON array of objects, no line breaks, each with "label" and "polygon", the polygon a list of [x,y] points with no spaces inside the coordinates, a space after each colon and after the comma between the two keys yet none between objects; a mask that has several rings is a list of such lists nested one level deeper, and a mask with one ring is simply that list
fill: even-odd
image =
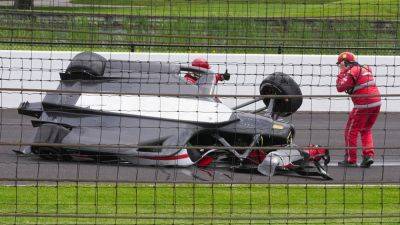
[{"label": "overturned grey and white race car with smashed front end", "polygon": [[[229,108],[215,97],[216,73],[205,62],[107,60],[83,52],[60,73],[56,91],[42,102],[23,102],[19,114],[35,117],[33,144],[21,151],[47,160],[94,160],[135,165],[209,167],[229,165],[271,176],[296,172],[331,179],[321,161],[327,149],[298,148],[294,126],[282,120],[301,97],[257,98]],[[284,73],[268,75],[261,95],[301,91]],[[263,101],[265,107],[240,111]]]}]

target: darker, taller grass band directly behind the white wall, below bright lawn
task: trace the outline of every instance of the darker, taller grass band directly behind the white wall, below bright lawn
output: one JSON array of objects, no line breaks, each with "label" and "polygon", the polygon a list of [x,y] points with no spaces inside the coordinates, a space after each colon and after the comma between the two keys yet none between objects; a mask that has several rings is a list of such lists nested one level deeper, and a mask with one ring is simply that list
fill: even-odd
[{"label": "darker, taller grass band directly behind the white wall, below bright lawn", "polygon": [[395,22],[0,15],[2,49],[216,53],[400,52]]}]

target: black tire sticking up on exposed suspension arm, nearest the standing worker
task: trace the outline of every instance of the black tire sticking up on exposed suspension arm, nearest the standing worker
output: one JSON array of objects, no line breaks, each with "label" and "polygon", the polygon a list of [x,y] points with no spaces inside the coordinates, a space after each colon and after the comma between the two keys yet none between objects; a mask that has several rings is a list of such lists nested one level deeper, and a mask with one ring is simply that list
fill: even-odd
[{"label": "black tire sticking up on exposed suspension arm, nearest the standing worker", "polygon": [[[261,95],[302,95],[299,85],[287,74],[276,72],[268,75],[260,84]],[[264,103],[269,105],[269,98]],[[277,98],[273,113],[287,117],[295,113],[303,103],[303,98]]]}]

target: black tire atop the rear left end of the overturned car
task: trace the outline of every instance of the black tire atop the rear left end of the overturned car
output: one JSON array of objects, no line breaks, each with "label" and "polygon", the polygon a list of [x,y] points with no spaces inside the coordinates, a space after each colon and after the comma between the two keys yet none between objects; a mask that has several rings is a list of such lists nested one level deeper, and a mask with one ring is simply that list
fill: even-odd
[{"label": "black tire atop the rear left end of the overturned car", "polygon": [[107,59],[93,52],[76,55],[62,76],[63,80],[93,80],[104,75]]}]

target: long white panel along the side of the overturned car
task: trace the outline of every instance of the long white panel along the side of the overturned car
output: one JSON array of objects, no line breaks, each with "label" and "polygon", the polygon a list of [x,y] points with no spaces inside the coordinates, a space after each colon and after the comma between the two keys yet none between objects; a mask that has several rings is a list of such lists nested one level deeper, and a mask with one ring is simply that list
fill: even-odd
[{"label": "long white panel along the side of the overturned car", "polygon": [[105,112],[201,123],[228,122],[232,109],[207,99],[82,94],[76,106]]}]

